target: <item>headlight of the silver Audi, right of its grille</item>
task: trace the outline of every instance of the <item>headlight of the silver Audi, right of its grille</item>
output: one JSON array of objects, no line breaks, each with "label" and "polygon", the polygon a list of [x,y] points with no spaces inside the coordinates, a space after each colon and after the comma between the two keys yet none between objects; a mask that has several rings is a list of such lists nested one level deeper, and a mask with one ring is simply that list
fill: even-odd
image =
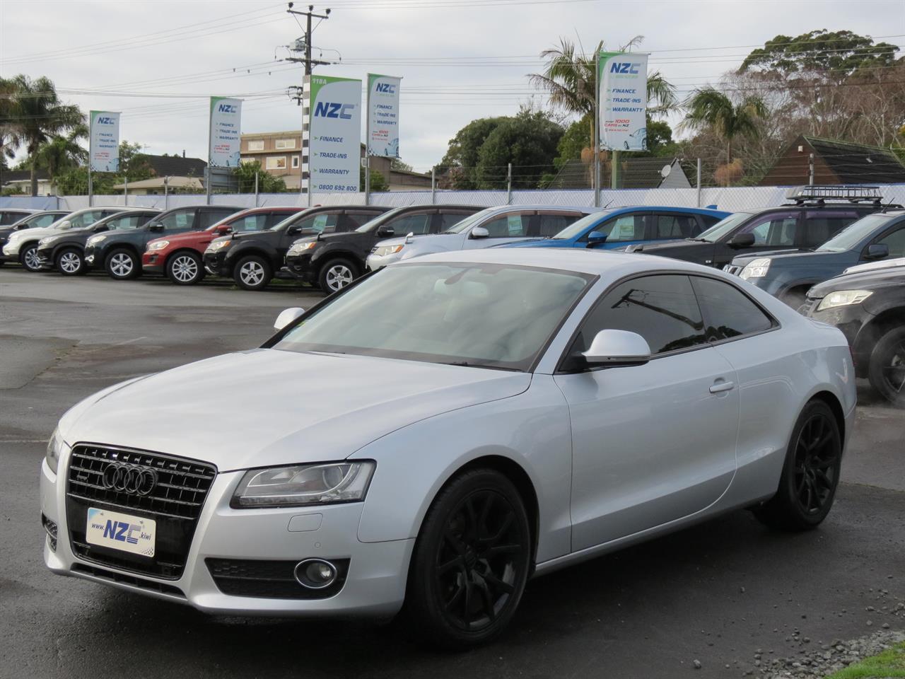
[{"label": "headlight of the silver Audi, right of its grille", "polygon": [[375,463],[336,462],[250,469],[235,489],[233,509],[301,507],[365,499]]}]

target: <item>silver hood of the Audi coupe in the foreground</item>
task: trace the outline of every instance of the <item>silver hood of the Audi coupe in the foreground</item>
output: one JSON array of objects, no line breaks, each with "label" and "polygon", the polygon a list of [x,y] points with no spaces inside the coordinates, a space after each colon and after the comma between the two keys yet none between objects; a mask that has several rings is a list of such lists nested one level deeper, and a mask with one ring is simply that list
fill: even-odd
[{"label": "silver hood of the Audi coupe in the foreground", "polygon": [[515,396],[530,381],[488,368],[253,349],[110,387],[73,407],[60,432],[69,445],[173,454],[222,472],[341,460],[424,418]]}]

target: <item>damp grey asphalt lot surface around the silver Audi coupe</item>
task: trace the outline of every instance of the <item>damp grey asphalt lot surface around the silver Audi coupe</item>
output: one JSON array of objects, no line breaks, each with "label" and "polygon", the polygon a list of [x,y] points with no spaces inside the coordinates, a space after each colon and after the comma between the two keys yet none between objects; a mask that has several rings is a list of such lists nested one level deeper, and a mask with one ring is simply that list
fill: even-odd
[{"label": "damp grey asphalt lot surface around the silver Audi coupe", "polygon": [[[320,298],[0,269],[0,676],[727,677],[759,674],[758,651],[768,665],[905,628],[893,614],[905,598],[905,413],[866,386],[819,530],[777,533],[736,512],[535,579],[505,636],[465,654],[427,651],[398,623],[208,617],[44,569],[38,466],[69,406],[257,346],[279,311]],[[210,426],[242,409],[224,402]]]}]

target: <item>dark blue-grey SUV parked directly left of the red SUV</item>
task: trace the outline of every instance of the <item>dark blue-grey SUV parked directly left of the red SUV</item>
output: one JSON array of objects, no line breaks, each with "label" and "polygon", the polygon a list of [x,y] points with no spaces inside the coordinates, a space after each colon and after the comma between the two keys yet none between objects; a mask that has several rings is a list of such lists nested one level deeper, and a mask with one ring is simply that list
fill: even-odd
[{"label": "dark blue-grey SUV parked directly left of the red SUV", "polygon": [[85,244],[85,264],[125,281],[141,275],[141,254],[149,240],[167,234],[200,231],[242,210],[236,206],[175,207],[136,229],[92,235]]}]

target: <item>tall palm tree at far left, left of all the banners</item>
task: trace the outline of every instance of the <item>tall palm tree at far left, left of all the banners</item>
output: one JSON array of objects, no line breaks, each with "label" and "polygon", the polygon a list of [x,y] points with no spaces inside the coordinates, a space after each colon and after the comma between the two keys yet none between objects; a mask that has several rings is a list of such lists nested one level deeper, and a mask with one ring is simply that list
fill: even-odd
[{"label": "tall palm tree at far left, left of all the banners", "polygon": [[85,116],[78,106],[63,104],[49,78],[32,80],[27,75],[12,79],[14,93],[9,124],[24,144],[32,170],[32,196],[38,195],[35,172],[38,149],[52,136],[84,125]]}]

